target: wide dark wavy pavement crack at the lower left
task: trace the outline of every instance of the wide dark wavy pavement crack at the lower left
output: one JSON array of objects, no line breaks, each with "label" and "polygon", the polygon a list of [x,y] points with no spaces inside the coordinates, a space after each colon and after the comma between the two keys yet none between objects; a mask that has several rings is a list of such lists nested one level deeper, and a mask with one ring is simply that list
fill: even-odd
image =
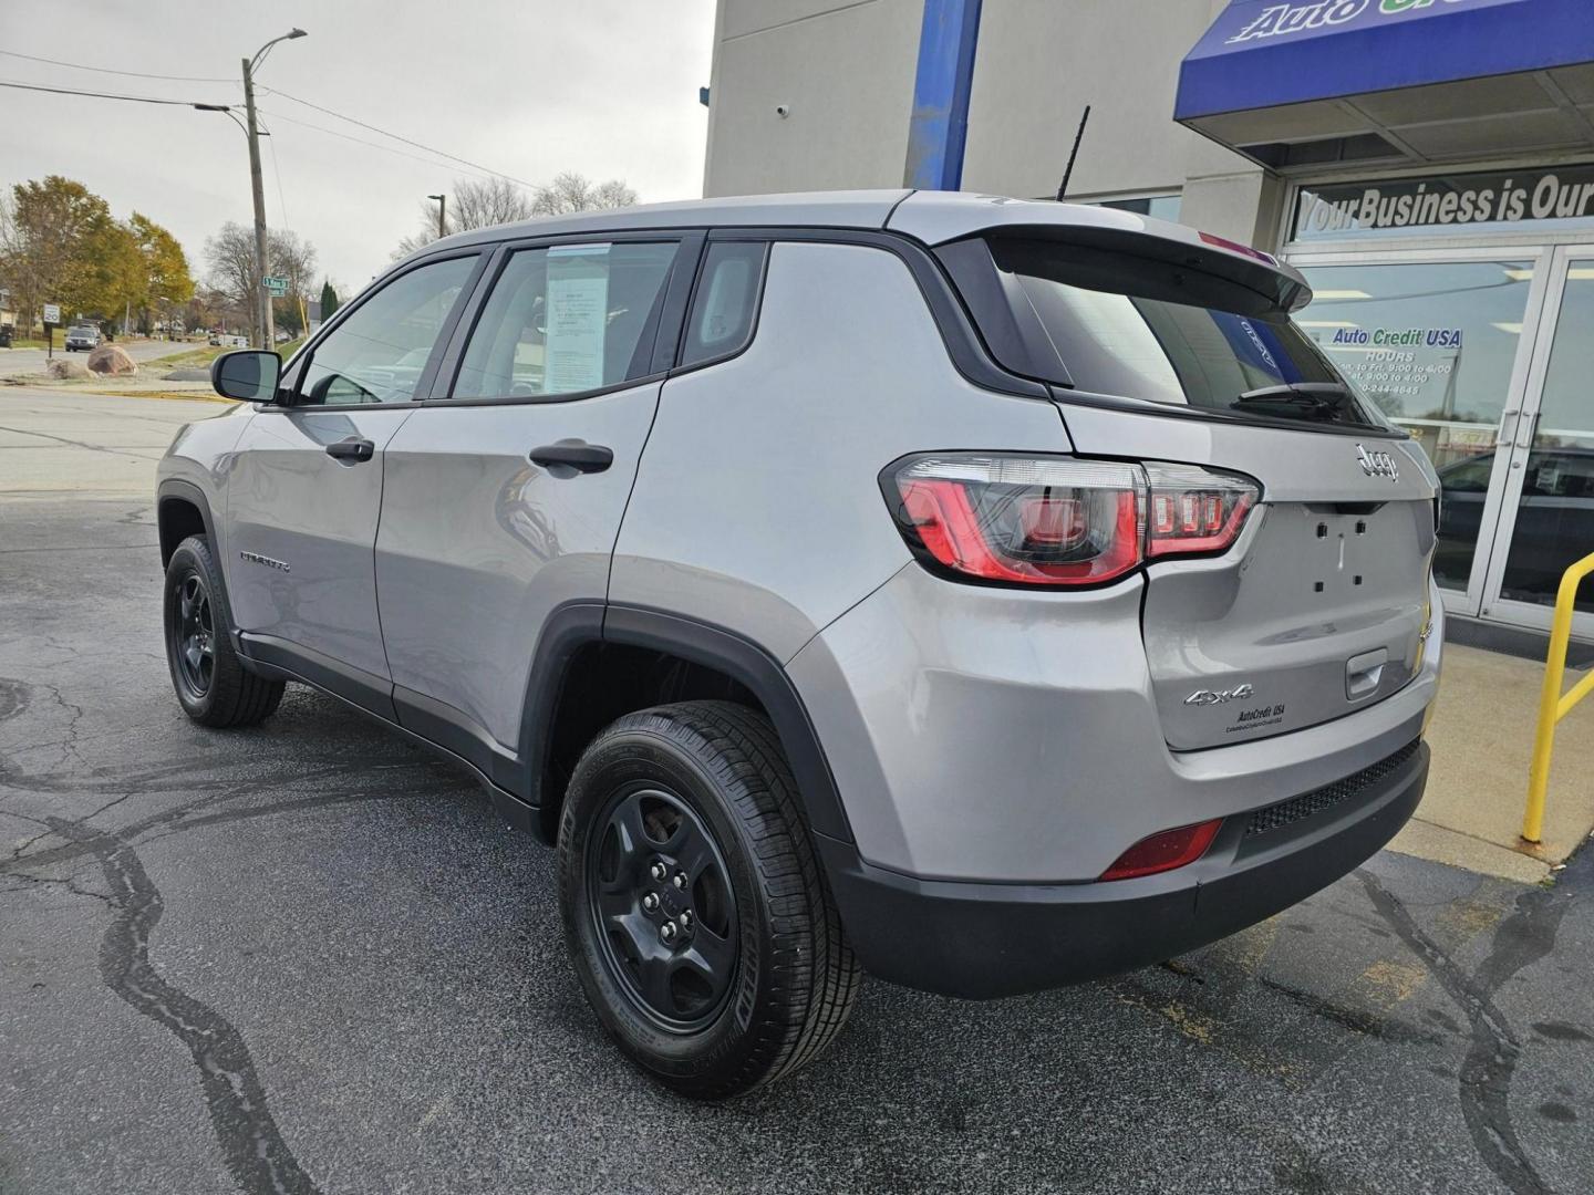
[{"label": "wide dark wavy pavement crack at the lower left", "polygon": [[177,1037],[199,1069],[210,1126],[239,1189],[250,1195],[316,1195],[319,1189],[282,1139],[249,1045],[222,1013],[161,978],[150,964],[150,934],[164,905],[137,852],[121,836],[61,817],[51,829],[99,859],[116,916],[100,942],[105,986]]}]

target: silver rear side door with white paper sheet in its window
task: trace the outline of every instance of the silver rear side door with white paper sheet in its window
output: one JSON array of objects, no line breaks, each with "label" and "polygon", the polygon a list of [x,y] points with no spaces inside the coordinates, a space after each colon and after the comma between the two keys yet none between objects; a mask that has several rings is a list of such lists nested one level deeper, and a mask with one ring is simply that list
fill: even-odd
[{"label": "silver rear side door with white paper sheet in its window", "polygon": [[501,250],[437,397],[387,445],[376,590],[398,720],[515,789],[539,636],[606,598],[700,244]]}]

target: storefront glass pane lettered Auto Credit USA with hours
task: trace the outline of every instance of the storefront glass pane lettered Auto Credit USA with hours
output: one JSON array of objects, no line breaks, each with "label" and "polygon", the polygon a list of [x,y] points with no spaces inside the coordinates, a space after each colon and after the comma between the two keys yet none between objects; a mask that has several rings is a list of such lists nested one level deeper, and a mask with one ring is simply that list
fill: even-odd
[{"label": "storefront glass pane lettered Auto Credit USA with hours", "polygon": [[[1532,261],[1307,266],[1315,298],[1296,322],[1427,449],[1444,483],[1435,574],[1465,590]],[[1594,362],[1584,365],[1594,368]],[[1589,422],[1583,424],[1589,427]]]}]

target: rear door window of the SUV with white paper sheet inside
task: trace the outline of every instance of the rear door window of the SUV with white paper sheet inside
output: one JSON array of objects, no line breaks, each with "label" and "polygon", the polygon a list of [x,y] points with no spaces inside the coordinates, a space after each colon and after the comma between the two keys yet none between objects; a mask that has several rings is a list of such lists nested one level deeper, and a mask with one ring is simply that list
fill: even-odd
[{"label": "rear door window of the SUV with white paper sheet inside", "polygon": [[580,394],[652,370],[677,244],[523,249],[493,285],[453,398]]}]

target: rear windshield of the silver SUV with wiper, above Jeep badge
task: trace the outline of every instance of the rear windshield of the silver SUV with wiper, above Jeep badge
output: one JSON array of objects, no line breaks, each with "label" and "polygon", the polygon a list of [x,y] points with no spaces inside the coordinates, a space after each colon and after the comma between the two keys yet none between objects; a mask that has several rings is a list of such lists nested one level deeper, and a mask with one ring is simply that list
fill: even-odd
[{"label": "rear windshield of the silver SUV with wiper, above Jeep badge", "polygon": [[[995,285],[971,306],[1007,368],[1232,416],[1388,427],[1288,312],[1247,287],[1084,245],[1012,237],[987,245]],[[966,276],[968,255],[948,266]],[[998,295],[1007,327],[987,328]],[[1017,355],[1025,360],[1011,360]]]}]

